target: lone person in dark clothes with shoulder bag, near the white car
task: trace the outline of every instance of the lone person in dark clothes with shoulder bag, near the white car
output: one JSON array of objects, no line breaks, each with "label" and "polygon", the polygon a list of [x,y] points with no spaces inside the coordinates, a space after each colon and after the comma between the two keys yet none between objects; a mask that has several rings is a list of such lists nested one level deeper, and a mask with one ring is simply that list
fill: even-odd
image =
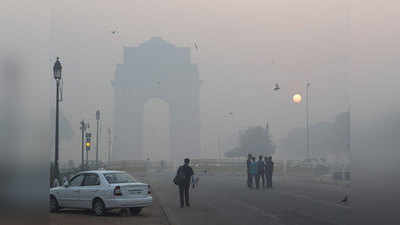
[{"label": "lone person in dark clothes with shoulder bag, near the white car", "polygon": [[185,206],[190,207],[189,202],[189,189],[190,181],[193,176],[193,169],[189,166],[190,159],[186,158],[184,164],[178,168],[176,176],[174,178],[174,183],[179,186],[179,199],[181,203],[181,208]]}]

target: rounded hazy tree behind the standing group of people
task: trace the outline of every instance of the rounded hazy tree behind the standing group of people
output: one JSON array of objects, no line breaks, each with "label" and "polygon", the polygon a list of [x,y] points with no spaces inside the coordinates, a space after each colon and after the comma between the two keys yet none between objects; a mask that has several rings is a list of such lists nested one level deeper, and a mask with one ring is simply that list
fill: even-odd
[{"label": "rounded hazy tree behind the standing group of people", "polygon": [[272,155],[275,153],[276,145],[271,140],[268,124],[265,128],[261,126],[250,127],[239,136],[239,146],[226,152],[226,157],[241,157],[251,153],[253,155]]}]

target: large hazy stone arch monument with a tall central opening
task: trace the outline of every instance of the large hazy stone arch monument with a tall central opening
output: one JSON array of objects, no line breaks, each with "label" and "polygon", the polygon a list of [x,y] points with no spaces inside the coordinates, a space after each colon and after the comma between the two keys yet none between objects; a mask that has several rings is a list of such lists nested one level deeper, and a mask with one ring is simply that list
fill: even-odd
[{"label": "large hazy stone arch monument with a tall central opening", "polygon": [[124,63],[117,65],[114,88],[113,160],[144,159],[143,108],[160,98],[170,108],[171,158],[200,154],[200,81],[190,48],[176,47],[153,37],[138,47],[124,48]]}]

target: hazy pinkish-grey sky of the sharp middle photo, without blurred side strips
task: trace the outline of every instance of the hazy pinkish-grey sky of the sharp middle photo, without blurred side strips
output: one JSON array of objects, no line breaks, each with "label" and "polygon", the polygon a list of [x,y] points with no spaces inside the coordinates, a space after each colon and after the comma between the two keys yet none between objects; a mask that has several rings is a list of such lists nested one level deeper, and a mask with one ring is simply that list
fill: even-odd
[{"label": "hazy pinkish-grey sky of the sharp middle photo, without blurred side strips", "polygon": [[[290,98],[304,93],[307,80],[314,122],[347,110],[345,1],[64,1],[53,7],[51,54],[64,62],[63,111],[77,135],[79,120],[93,125],[97,108],[104,111],[104,127],[112,126],[110,80],[115,63],[122,61],[122,47],[153,36],[192,47],[204,81],[200,107],[207,155],[215,152],[218,136],[227,144],[239,128],[268,120],[279,140],[289,129],[304,126],[305,106]],[[272,91],[275,83],[280,92]],[[148,126],[166,123],[167,116],[157,117],[167,111],[163,107],[146,107],[155,116],[145,121]],[[229,112],[234,117],[224,119]],[[158,141],[159,149],[165,146],[162,135]],[[74,147],[79,147],[78,136],[69,146]]]}]

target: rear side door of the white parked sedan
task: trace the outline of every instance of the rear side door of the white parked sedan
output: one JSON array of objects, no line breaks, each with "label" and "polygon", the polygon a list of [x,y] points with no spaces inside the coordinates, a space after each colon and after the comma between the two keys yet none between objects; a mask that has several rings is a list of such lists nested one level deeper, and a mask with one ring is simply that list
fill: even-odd
[{"label": "rear side door of the white parked sedan", "polygon": [[81,208],[92,208],[92,200],[99,195],[101,191],[99,175],[87,173],[80,191]]}]

